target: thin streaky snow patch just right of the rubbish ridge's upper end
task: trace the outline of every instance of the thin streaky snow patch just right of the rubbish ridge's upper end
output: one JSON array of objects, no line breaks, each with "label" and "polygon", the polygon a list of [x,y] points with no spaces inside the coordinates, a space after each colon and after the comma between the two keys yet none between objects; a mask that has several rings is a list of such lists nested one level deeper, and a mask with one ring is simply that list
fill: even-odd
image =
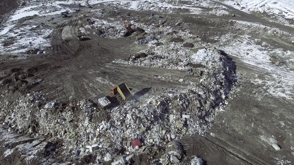
[{"label": "thin streaky snow patch just right of the rubbish ridge's upper end", "polygon": [[[261,40],[254,40],[250,35],[239,36],[232,41],[232,36],[226,34],[220,37],[222,46],[218,47],[229,55],[238,57],[246,65],[250,65],[246,67],[261,73],[271,73],[271,76],[265,75],[268,81],[262,83],[266,86],[263,90],[273,96],[294,99],[294,71],[291,68],[294,52],[272,50],[265,41],[259,42]],[[252,82],[259,83],[259,80]]]}]

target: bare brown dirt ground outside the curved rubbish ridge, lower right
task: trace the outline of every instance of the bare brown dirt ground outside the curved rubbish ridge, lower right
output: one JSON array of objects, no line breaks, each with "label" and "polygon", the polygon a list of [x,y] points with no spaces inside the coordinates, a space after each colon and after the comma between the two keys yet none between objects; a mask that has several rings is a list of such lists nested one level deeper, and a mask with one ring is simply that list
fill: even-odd
[{"label": "bare brown dirt ground outside the curved rubbish ridge, lower right", "polygon": [[[180,140],[187,156],[202,157],[207,165],[277,165],[277,160],[293,162],[293,102],[270,96],[264,86],[251,83],[255,77],[265,80],[263,77],[267,73],[253,70],[253,66],[244,65],[238,59],[234,61],[237,71],[243,74],[243,88],[229,101],[226,111],[216,116],[208,133]],[[275,151],[260,139],[261,136],[275,137],[282,150]]]}]

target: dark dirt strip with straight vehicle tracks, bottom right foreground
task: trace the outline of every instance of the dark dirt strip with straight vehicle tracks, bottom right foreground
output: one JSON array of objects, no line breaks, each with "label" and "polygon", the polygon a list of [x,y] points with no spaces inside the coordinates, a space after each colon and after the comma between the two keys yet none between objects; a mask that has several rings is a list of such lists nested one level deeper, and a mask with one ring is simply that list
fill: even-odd
[{"label": "dark dirt strip with straight vehicle tracks, bottom right foreground", "polygon": [[231,139],[225,133],[217,132],[215,138],[205,133],[204,136],[193,136],[182,140],[185,142],[183,143],[184,149],[191,151],[189,152],[191,156],[195,155],[207,160],[213,156],[218,164],[274,165],[272,161],[269,161],[270,157],[257,156],[255,149],[246,149],[241,145],[236,145],[234,143],[236,139]]}]

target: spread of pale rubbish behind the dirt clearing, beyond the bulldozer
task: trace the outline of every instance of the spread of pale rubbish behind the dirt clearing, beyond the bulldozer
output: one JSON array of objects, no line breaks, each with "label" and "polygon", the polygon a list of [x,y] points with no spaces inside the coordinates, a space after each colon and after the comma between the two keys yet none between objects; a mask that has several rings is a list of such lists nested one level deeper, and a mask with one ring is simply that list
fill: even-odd
[{"label": "spread of pale rubbish behind the dirt clearing, beyond the bulldozer", "polygon": [[[144,42],[147,41],[148,49],[139,52],[139,54],[144,53],[147,56],[138,57],[138,55],[133,55],[128,60],[118,59],[113,62],[133,66],[184,70],[185,66],[191,62],[189,56],[193,53],[193,49],[184,47],[183,42],[189,41],[196,43],[198,47],[204,46],[205,44],[199,37],[192,35],[189,31],[170,31],[168,27],[161,27],[156,30],[152,27],[144,28],[146,28],[149,38],[142,40],[144,40]],[[162,31],[168,32],[166,32],[165,35],[158,35],[158,33],[162,33]],[[137,42],[140,44],[142,40]]]}]

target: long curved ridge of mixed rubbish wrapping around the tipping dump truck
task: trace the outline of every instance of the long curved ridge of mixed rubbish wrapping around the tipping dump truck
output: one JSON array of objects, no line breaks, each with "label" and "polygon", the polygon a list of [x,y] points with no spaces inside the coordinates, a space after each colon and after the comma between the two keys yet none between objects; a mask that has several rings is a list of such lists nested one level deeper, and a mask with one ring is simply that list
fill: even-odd
[{"label": "long curved ridge of mixed rubbish wrapping around the tipping dump truck", "polygon": [[204,66],[203,75],[186,90],[158,89],[140,101],[105,111],[98,111],[91,100],[65,106],[46,102],[44,95],[35,92],[20,96],[14,105],[0,103],[3,125],[8,131],[63,139],[63,154],[97,154],[99,162],[132,155],[141,146],[160,146],[188,134],[201,134],[224,109],[237,79],[233,64],[216,49],[200,50],[190,61]]}]

